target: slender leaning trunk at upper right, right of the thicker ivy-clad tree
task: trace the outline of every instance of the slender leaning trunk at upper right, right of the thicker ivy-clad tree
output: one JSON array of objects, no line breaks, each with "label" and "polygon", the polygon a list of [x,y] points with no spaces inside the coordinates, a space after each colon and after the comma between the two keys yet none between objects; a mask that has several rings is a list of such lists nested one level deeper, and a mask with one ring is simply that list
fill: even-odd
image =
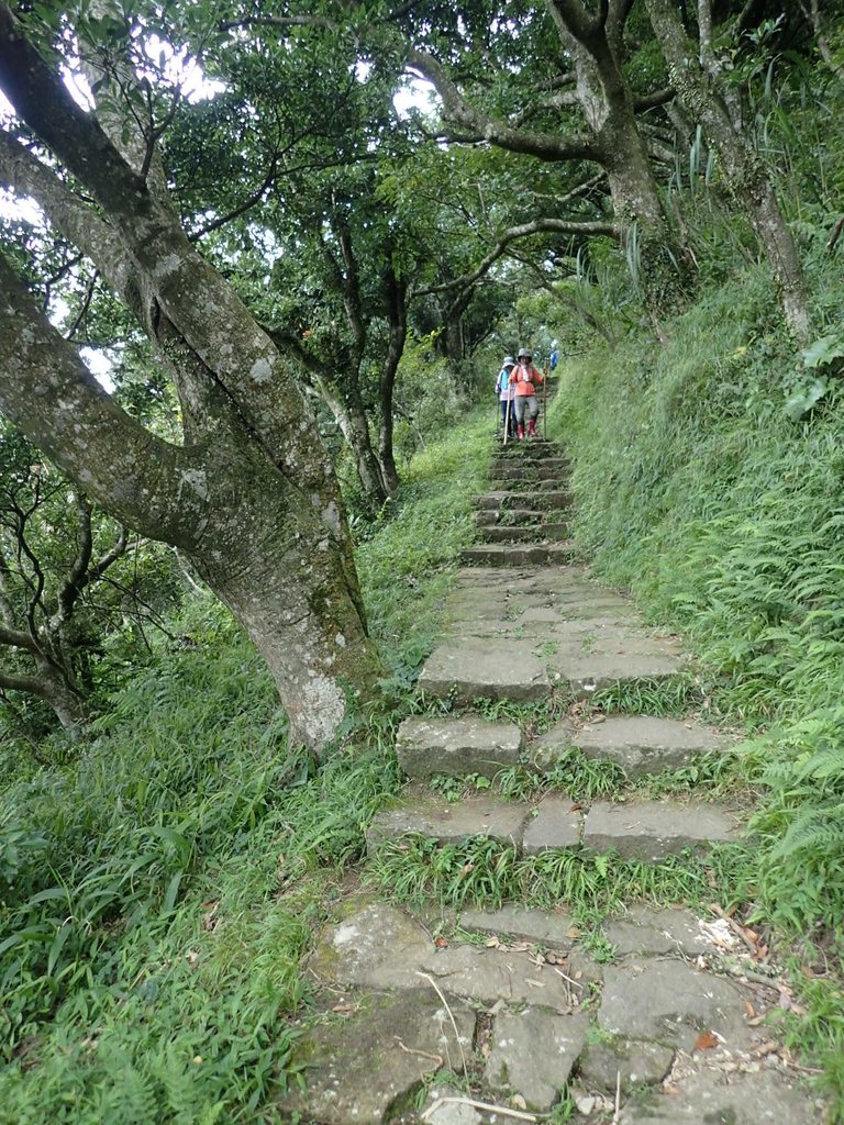
[{"label": "slender leaning trunk at upper right, right of the thicker ivy-clad tree", "polygon": [[806,280],[771,178],[758,153],[734,127],[717,78],[700,64],[670,0],[646,0],[646,6],[672,84],[718,153],[729,191],[773,273],[785,323],[796,341],[805,344],[811,338]]}]

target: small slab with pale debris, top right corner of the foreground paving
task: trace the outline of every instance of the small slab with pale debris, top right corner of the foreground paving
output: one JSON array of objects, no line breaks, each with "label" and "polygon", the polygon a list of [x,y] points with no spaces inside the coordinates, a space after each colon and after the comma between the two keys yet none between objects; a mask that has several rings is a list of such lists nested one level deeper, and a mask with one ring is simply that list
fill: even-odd
[{"label": "small slab with pale debris, top right corner of the foreground paving", "polygon": [[726,926],[719,927],[718,921],[704,921],[691,910],[647,906],[630,907],[623,917],[607,921],[603,932],[620,957],[629,954],[662,956],[666,953],[697,957],[716,948],[716,937],[724,952],[724,946],[730,938]]}]

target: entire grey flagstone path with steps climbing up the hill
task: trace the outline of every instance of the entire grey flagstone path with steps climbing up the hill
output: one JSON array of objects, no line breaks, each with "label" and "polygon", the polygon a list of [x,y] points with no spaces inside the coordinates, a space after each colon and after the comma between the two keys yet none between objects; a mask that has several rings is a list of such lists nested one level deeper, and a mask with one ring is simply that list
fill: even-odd
[{"label": "entire grey flagstone path with steps climbing up the hill", "polygon": [[[491,489],[476,498],[481,542],[466,551],[447,630],[420,677],[428,698],[466,710],[402,724],[397,753],[410,784],[370,825],[370,847],[406,834],[441,845],[483,836],[517,855],[575,849],[658,863],[740,834],[737,811],[706,793],[689,801],[625,793],[583,807],[559,792],[505,801],[483,791],[454,803],[430,789],[439,774],[548,772],[572,750],[634,781],[730,744],[695,722],[638,714],[584,722],[576,712],[530,738],[514,722],[473,712],[483,699],[589,700],[605,686],[653,685],[684,668],[676,638],[645,628],[629,601],[573,561],[567,471],[545,442],[495,457]],[[769,1022],[790,1002],[788,988],[752,958],[731,919],[636,904],[605,922],[611,960],[602,961],[583,947],[565,903],[464,909],[450,919],[451,936],[434,939],[441,921],[375,891],[347,896],[308,963],[322,1007],[303,1023],[294,1052],[303,1086],[281,1099],[280,1119],[823,1119]]]}]

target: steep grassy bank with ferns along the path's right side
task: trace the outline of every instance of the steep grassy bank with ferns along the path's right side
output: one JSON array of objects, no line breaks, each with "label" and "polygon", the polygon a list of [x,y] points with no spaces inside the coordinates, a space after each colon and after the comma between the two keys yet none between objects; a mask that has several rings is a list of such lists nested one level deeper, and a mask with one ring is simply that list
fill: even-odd
[{"label": "steep grassy bank with ferns along the path's right side", "polygon": [[[817,228],[806,251],[828,348],[839,264]],[[776,321],[764,270],[712,285],[666,346],[638,333],[569,361],[551,429],[584,557],[688,638],[709,713],[747,732],[746,893],[798,950],[800,1041],[844,1115],[844,395],[836,361],[794,410],[811,370]]]}]

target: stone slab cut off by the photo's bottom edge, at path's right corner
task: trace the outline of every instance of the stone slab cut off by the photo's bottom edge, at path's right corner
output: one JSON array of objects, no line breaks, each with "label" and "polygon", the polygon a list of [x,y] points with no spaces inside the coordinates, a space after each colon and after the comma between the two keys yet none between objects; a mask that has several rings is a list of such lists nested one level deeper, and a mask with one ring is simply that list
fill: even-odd
[{"label": "stone slab cut off by the photo's bottom edge, at path's right corner", "polygon": [[821,1108],[808,1090],[774,1070],[726,1076],[701,1071],[631,1104],[620,1125],[819,1125]]}]

